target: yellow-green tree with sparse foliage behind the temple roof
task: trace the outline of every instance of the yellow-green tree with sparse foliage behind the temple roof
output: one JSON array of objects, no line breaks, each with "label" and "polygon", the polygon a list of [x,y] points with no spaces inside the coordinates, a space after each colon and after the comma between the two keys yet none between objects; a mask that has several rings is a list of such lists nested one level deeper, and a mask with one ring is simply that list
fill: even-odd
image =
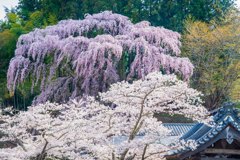
[{"label": "yellow-green tree with sparse foliage behind the temple roof", "polygon": [[195,66],[192,85],[205,94],[205,106],[218,107],[230,98],[239,74],[240,24],[234,18],[221,25],[187,21],[183,55]]}]

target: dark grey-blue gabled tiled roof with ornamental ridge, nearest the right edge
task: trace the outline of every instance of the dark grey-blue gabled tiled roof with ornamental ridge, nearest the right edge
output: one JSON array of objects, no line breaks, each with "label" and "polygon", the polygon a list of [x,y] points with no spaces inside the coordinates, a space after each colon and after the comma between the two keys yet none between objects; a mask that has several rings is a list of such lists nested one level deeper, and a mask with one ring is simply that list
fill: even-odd
[{"label": "dark grey-blue gabled tiled roof with ornamental ridge, nearest the right edge", "polygon": [[[236,138],[236,134],[231,133],[233,132],[233,130],[237,131],[238,136],[240,136],[239,110],[233,108],[233,104],[225,104],[224,107],[219,108],[213,119],[214,123],[211,126],[198,123],[193,126],[186,134],[184,134],[180,139],[186,141],[195,140],[197,143],[197,149],[201,148],[202,150],[204,146],[214,143],[216,141],[216,138],[224,138],[227,140],[228,143],[231,143],[231,141]],[[191,152],[191,149],[185,148],[174,151],[175,154],[182,154],[186,152]]]}]

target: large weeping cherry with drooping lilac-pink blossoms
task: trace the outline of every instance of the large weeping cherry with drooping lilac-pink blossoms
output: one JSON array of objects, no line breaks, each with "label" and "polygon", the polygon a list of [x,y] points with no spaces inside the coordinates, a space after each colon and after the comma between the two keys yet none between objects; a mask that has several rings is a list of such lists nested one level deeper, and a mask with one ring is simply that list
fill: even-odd
[{"label": "large weeping cherry with drooping lilac-pink blossoms", "polygon": [[153,71],[177,73],[188,80],[193,65],[180,58],[180,34],[147,21],[137,24],[105,11],[83,20],[22,35],[17,42],[7,79],[8,89],[31,79],[40,86],[35,104],[96,95],[120,80],[139,79]]}]

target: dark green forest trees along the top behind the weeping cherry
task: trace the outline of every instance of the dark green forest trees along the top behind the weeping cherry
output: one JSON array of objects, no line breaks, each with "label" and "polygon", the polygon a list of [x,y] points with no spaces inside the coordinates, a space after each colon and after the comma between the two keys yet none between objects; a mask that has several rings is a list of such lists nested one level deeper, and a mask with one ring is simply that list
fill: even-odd
[{"label": "dark green forest trees along the top behind the weeping cherry", "polygon": [[196,20],[210,22],[221,20],[227,11],[234,7],[235,0],[20,0],[19,15],[24,20],[29,19],[31,13],[41,11],[44,17],[53,15],[57,20],[83,19],[86,13],[94,14],[105,10],[123,14],[136,23],[147,20],[154,26],[182,31],[184,19],[188,16]]}]

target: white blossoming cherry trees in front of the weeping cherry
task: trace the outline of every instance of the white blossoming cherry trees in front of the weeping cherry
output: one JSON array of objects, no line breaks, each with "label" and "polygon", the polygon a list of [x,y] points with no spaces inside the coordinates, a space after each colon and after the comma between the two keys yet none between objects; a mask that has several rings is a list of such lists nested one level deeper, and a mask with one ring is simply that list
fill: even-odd
[{"label": "white blossoming cherry trees in front of the weeping cherry", "polygon": [[153,114],[203,120],[207,111],[200,96],[175,75],[154,72],[132,84],[111,85],[100,93],[100,101],[86,97],[45,103],[13,117],[1,116],[1,141],[16,146],[0,149],[0,159],[164,159],[171,147],[161,140],[169,130]]}]

